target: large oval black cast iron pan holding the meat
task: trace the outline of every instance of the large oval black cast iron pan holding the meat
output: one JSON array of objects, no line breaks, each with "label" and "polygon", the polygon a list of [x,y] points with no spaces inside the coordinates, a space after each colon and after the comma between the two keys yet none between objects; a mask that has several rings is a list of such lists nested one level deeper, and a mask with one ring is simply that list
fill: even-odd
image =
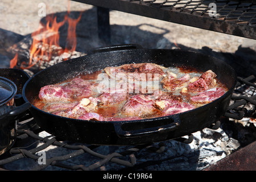
[{"label": "large oval black cast iron pan holding the meat", "polygon": [[129,63],[155,63],[164,67],[189,65],[199,71],[212,69],[228,87],[217,100],[184,113],[138,121],[84,121],[49,114],[31,106],[35,122],[48,133],[64,140],[87,144],[133,145],[183,137],[212,125],[228,108],[236,73],[229,65],[200,53],[172,49],[143,49],[124,45],[96,49],[86,56],[52,65],[32,76],[23,87],[24,101],[33,103],[40,88],[75,77],[80,73]]}]

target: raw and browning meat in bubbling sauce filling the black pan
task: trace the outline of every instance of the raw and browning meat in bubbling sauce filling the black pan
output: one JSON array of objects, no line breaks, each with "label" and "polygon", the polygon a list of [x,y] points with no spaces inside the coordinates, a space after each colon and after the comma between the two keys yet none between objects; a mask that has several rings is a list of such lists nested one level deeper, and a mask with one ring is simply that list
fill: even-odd
[{"label": "raw and browning meat in bubbling sauce filling the black pan", "polygon": [[[111,69],[114,71],[111,72]],[[122,79],[114,80],[114,90],[111,90],[113,76],[117,78],[119,73],[124,73]],[[146,77],[134,76],[133,73],[145,73]],[[129,74],[134,77],[129,77]],[[192,110],[216,100],[227,90],[212,71],[164,68],[156,64],[127,64],[44,86],[33,104],[38,109],[63,117],[121,121]]]}]

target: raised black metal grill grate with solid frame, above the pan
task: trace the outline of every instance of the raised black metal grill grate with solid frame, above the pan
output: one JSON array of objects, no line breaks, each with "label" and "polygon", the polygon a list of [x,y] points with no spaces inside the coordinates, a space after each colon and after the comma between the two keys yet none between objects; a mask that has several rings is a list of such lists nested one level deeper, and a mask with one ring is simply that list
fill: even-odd
[{"label": "raised black metal grill grate with solid frame, above the pan", "polygon": [[255,1],[73,0],[167,22],[256,39]]}]

